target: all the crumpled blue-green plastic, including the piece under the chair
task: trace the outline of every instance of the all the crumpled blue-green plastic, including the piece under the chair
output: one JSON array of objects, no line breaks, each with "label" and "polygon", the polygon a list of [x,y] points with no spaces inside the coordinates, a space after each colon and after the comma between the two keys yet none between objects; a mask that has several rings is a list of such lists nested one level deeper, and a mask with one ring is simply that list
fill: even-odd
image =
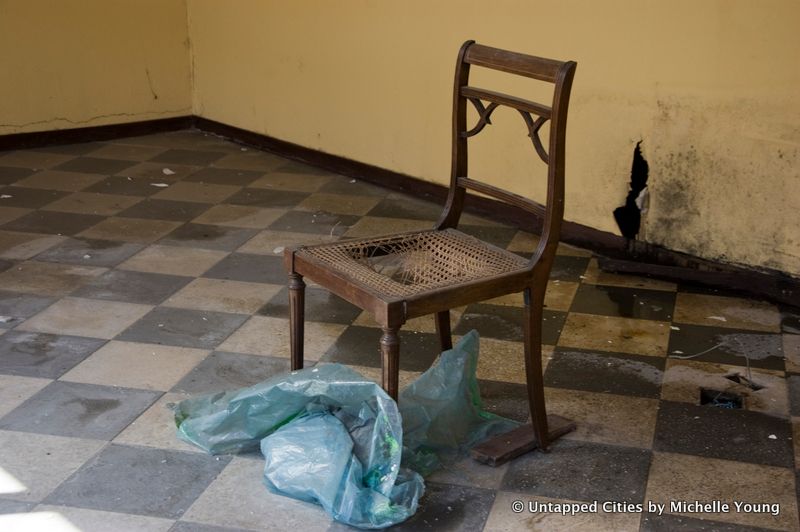
[{"label": "all the crumpled blue-green plastic, including the piece under the chair", "polygon": [[181,401],[178,435],[212,454],[260,445],[270,490],[320,504],[348,525],[385,528],[416,511],[420,474],[519,426],[483,410],[477,360],[471,331],[401,393],[399,410],[352,369],[320,364]]}]

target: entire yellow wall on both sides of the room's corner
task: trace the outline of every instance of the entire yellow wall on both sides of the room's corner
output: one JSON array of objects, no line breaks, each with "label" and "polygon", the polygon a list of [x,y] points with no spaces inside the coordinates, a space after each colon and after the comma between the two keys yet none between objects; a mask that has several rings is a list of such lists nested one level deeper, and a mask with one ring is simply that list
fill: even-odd
[{"label": "entire yellow wall on both sides of the room's corner", "polygon": [[[647,241],[800,275],[798,20],[795,0],[0,0],[0,134],[194,112],[444,184],[476,39],[578,61],[567,219],[617,232],[643,140]],[[476,175],[541,200],[521,120],[494,122]]]}]

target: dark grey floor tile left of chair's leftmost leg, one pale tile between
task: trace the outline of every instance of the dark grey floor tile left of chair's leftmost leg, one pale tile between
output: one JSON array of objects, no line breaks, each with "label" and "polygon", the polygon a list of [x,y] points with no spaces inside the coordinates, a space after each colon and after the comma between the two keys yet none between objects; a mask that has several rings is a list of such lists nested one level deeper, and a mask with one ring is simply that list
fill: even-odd
[{"label": "dark grey floor tile left of chair's leftmost leg, one pale tile between", "polygon": [[156,307],[119,340],[214,349],[247,320],[244,314]]}]

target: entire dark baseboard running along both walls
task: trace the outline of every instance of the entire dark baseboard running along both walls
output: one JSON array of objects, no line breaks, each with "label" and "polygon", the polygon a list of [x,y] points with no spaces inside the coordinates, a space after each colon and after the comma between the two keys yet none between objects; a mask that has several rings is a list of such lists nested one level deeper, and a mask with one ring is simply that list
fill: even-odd
[{"label": "entire dark baseboard running along both walls", "polygon": [[[192,127],[390,190],[442,204],[447,198],[447,187],[443,185],[198,116],[5,135],[0,136],[0,150],[111,140]],[[468,195],[465,206],[471,213],[527,231],[541,230],[542,220],[534,214],[490,198]],[[645,242],[630,242],[613,233],[567,220],[561,228],[561,240],[601,255],[600,266],[607,271],[698,283],[800,307],[800,279],[777,270],[757,270],[701,259]]]}]

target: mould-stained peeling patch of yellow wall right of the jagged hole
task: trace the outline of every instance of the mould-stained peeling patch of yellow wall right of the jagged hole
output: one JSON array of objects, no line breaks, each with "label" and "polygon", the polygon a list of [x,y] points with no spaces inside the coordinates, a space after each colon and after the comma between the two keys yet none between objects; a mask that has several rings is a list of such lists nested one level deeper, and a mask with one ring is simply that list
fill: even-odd
[{"label": "mould-stained peeling patch of yellow wall right of the jagged hole", "polygon": [[658,102],[647,240],[800,276],[800,138],[745,134],[753,105]]}]

